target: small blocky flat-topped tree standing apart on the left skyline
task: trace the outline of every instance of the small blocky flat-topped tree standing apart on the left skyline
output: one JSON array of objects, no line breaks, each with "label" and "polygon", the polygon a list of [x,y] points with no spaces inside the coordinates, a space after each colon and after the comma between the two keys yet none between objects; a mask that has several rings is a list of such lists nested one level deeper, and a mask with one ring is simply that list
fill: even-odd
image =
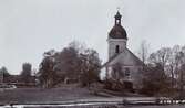
[{"label": "small blocky flat-topped tree standing apart on the left skyline", "polygon": [[31,64],[30,63],[23,63],[22,64],[22,72],[21,72],[21,79],[24,83],[30,83],[31,79]]}]

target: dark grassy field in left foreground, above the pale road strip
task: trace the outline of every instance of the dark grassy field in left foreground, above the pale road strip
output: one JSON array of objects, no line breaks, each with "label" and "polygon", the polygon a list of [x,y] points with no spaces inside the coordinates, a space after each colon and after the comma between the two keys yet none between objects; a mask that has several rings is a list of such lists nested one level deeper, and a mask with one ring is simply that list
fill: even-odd
[{"label": "dark grassy field in left foreground, above the pale road strip", "polygon": [[88,88],[81,88],[71,85],[64,85],[58,88],[16,88],[10,90],[0,91],[0,104],[10,102],[54,102],[63,100],[75,100],[83,98],[94,98]]}]

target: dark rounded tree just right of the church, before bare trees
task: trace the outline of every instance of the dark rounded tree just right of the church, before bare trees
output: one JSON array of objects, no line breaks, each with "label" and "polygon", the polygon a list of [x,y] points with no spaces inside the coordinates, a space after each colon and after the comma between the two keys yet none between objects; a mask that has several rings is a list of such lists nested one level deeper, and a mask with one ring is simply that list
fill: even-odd
[{"label": "dark rounded tree just right of the church, before bare trees", "polygon": [[164,73],[161,64],[156,64],[154,67],[148,65],[143,75],[141,93],[154,96],[165,95],[168,91],[168,77]]}]

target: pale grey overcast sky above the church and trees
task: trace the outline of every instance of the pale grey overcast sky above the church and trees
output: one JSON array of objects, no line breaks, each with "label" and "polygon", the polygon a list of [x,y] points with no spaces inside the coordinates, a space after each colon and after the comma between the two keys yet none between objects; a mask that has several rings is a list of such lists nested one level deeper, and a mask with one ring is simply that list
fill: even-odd
[{"label": "pale grey overcast sky above the church and trees", "polygon": [[185,0],[0,0],[0,67],[19,74],[22,63],[39,67],[45,51],[72,41],[107,60],[107,33],[120,7],[127,47],[137,53],[185,43]]}]

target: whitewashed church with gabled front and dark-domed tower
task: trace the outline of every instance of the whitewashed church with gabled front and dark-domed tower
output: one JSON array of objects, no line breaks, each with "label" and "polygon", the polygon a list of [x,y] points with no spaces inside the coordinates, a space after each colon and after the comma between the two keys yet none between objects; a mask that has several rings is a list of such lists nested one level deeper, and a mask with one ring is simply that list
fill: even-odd
[{"label": "whitewashed church with gabled front and dark-domed tower", "polygon": [[129,37],[125,29],[122,26],[122,15],[119,11],[114,19],[114,26],[107,35],[109,60],[103,65],[103,69],[106,73],[106,77],[111,77],[112,73],[121,72],[122,76],[117,74],[117,77],[121,77],[120,79],[124,83],[132,84],[132,88],[136,88],[140,86],[143,62],[126,47]]}]

